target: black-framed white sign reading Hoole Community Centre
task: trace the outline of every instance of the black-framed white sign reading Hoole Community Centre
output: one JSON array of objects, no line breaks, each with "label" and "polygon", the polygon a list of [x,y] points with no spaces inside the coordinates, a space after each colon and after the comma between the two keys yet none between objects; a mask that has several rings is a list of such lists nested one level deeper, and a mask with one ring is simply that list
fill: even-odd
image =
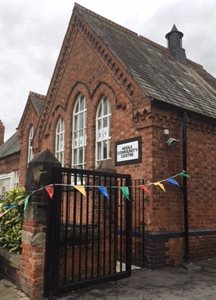
[{"label": "black-framed white sign reading Hoole Community Centre", "polygon": [[141,137],[116,143],[116,165],[141,162]]}]

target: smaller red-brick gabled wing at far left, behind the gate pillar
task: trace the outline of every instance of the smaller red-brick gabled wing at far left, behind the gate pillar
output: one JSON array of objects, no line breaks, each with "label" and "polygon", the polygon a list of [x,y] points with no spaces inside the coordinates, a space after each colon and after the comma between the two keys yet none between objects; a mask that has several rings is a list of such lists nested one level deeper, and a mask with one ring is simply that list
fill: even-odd
[{"label": "smaller red-brick gabled wing at far left, behind the gate pillar", "polygon": [[[0,123],[0,195],[24,186],[28,162],[33,158],[32,138],[45,97],[33,92],[29,97],[17,130],[5,143],[4,125]],[[22,159],[21,159],[22,158]]]}]

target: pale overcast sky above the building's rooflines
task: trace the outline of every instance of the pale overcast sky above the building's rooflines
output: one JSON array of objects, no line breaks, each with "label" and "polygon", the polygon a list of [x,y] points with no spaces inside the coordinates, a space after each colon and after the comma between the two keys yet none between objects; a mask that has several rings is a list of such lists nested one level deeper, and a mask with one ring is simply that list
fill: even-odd
[{"label": "pale overcast sky above the building's rooflines", "polygon": [[[71,0],[0,0],[0,119],[16,130],[29,91],[46,95],[74,7]],[[77,0],[166,46],[176,24],[189,59],[216,77],[216,0]]]}]

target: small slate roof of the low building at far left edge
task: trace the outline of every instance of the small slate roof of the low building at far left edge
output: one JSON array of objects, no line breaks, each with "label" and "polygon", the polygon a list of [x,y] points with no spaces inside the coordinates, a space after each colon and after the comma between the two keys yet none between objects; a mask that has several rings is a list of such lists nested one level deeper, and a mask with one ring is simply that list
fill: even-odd
[{"label": "small slate roof of the low building at far left edge", "polygon": [[18,132],[15,132],[4,144],[0,146],[0,159],[16,154],[20,151]]}]

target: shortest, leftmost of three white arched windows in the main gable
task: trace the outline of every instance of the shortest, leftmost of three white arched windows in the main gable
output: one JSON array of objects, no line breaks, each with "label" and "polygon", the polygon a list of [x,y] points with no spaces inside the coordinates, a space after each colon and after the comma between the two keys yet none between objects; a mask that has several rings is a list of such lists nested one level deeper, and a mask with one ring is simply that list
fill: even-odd
[{"label": "shortest, leftmost of three white arched windows in the main gable", "polygon": [[55,134],[55,156],[61,165],[64,165],[64,120],[60,118],[56,125]]}]

